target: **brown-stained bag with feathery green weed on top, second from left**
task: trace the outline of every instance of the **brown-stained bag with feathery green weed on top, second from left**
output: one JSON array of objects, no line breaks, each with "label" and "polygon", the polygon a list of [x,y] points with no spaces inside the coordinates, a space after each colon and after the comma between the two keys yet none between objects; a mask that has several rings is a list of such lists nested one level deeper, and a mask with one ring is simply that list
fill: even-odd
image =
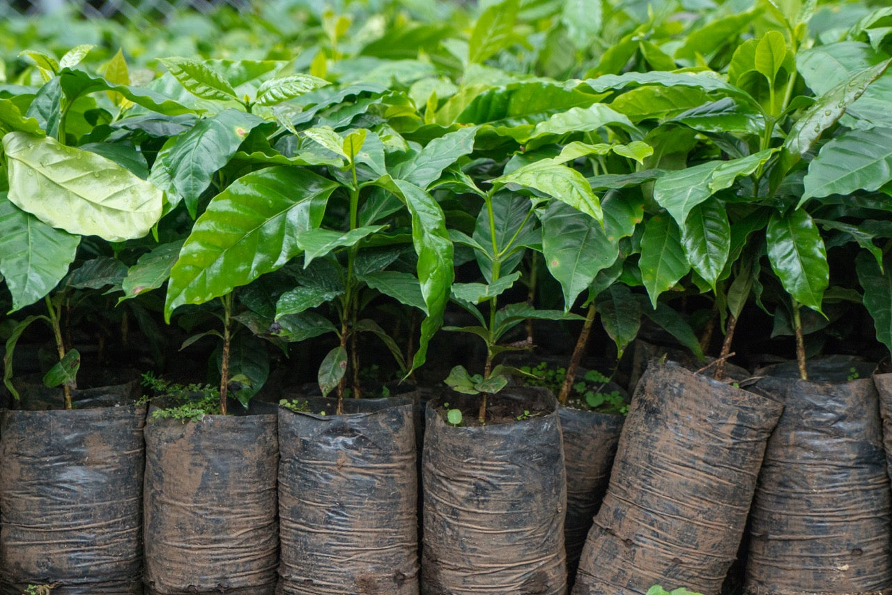
[{"label": "brown-stained bag with feathery green weed on top, second from left", "polygon": [[276,415],[145,425],[145,582],[158,595],[272,595]]}]

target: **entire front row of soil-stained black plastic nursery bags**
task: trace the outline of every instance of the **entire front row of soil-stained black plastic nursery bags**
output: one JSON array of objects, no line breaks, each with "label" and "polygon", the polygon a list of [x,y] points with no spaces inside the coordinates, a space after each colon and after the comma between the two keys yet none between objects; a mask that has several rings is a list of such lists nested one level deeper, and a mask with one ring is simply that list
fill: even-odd
[{"label": "entire front row of soil-stained black plastic nursery bags", "polygon": [[[412,398],[191,423],[146,423],[145,406],[7,411],[0,592],[559,594],[569,576],[574,595],[711,595],[751,503],[747,591],[881,591],[880,399],[848,370],[806,382],[781,366],[741,389],[652,364],[625,423],[533,390],[499,398],[549,413],[483,427],[450,426],[436,402],[421,420]],[[875,380],[892,401],[892,375]]]}]

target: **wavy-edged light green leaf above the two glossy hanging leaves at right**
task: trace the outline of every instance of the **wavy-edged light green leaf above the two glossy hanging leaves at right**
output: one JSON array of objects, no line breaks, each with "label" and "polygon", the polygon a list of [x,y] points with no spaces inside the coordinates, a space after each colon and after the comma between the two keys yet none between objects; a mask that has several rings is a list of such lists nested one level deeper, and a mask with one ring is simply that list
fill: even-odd
[{"label": "wavy-edged light green leaf above the two glossy hanging leaves at right", "polygon": [[776,151],[765,149],[740,159],[710,161],[668,172],[654,183],[654,199],[683,228],[691,209],[719,190],[731,188],[739,176],[756,172]]}]

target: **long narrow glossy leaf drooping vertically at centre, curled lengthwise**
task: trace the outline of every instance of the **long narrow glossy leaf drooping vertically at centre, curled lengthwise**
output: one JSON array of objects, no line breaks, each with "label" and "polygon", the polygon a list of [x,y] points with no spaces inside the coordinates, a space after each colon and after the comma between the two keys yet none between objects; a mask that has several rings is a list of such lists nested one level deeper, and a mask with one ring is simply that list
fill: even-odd
[{"label": "long narrow glossy leaf drooping vertically at centre, curled lengthwise", "polygon": [[425,298],[425,320],[412,361],[412,370],[425,363],[427,344],[442,325],[443,311],[449,301],[454,279],[452,242],[446,231],[442,208],[424,189],[405,180],[394,180],[412,217],[412,244],[418,256],[416,272]]}]

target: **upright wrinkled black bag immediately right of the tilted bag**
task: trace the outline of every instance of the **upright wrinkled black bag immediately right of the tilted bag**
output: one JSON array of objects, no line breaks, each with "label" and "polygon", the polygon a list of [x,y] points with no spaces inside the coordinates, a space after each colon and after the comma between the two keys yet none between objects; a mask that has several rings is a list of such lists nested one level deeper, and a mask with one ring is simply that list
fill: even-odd
[{"label": "upright wrinkled black bag immediately right of the tilted bag", "polygon": [[892,516],[871,379],[830,384],[770,376],[752,390],[782,398],[785,409],[759,475],[747,591],[888,590]]}]

